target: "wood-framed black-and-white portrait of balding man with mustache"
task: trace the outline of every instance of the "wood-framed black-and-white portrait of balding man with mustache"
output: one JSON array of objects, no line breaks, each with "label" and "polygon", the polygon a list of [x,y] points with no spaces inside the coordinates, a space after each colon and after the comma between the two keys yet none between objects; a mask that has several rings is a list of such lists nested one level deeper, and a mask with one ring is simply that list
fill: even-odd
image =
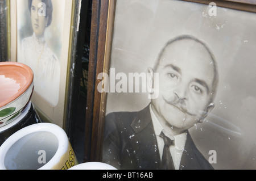
[{"label": "wood-framed black-and-white portrait of balding man with mustache", "polygon": [[253,1],[94,1],[91,161],[255,169]]}]

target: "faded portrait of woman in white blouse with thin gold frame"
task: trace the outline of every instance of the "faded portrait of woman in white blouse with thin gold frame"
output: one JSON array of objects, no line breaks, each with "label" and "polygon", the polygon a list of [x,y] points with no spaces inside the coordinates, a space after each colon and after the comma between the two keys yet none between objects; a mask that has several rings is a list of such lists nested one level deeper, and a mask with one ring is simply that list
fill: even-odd
[{"label": "faded portrait of woman in white blouse with thin gold frame", "polygon": [[11,61],[34,72],[32,103],[45,121],[65,124],[72,62],[73,0],[11,1]]}]

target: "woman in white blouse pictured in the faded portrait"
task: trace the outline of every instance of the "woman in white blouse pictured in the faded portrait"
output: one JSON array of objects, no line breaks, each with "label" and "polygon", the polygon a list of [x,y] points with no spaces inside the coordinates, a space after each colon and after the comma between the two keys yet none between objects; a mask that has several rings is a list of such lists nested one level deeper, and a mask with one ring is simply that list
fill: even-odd
[{"label": "woman in white blouse pictured in the faded portrait", "polygon": [[28,0],[33,33],[21,41],[20,62],[34,71],[36,94],[42,96],[51,106],[59,100],[60,63],[44,38],[44,32],[52,22],[51,0]]}]

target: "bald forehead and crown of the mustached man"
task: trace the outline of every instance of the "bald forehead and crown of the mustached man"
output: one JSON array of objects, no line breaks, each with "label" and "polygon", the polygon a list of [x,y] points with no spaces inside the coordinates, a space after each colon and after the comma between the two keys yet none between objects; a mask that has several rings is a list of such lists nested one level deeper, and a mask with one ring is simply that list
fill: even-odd
[{"label": "bald forehead and crown of the mustached man", "polygon": [[193,40],[179,40],[168,45],[160,58],[159,67],[170,68],[191,78],[207,79],[208,83],[212,83],[214,78],[214,62],[210,53]]}]

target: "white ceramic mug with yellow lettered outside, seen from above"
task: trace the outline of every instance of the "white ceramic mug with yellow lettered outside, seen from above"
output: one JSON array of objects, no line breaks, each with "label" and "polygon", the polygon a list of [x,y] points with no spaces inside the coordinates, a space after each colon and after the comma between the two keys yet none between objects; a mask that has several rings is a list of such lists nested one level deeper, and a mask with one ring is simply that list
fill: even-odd
[{"label": "white ceramic mug with yellow lettered outside, seen from above", "polygon": [[67,134],[52,123],[22,128],[0,146],[1,170],[67,170],[77,164]]}]

